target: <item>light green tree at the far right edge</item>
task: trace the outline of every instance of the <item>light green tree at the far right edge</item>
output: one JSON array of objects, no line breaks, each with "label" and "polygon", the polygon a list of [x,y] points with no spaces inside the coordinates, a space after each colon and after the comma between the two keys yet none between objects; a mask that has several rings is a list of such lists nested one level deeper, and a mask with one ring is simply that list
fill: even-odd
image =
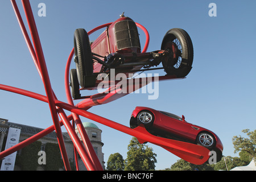
[{"label": "light green tree at the far right edge", "polygon": [[239,152],[241,159],[246,162],[250,162],[251,159],[256,158],[256,130],[250,131],[249,129],[242,130],[249,138],[234,136],[233,137],[233,144],[234,144],[234,152]]}]

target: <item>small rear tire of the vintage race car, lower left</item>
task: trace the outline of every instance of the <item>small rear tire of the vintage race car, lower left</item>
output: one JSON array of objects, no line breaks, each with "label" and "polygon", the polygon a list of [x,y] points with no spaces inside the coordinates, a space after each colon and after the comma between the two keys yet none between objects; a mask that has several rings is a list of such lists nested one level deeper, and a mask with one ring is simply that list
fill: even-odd
[{"label": "small rear tire of the vintage race car, lower left", "polygon": [[73,99],[79,99],[81,94],[79,90],[79,81],[77,78],[76,69],[71,69],[70,71],[70,86]]}]

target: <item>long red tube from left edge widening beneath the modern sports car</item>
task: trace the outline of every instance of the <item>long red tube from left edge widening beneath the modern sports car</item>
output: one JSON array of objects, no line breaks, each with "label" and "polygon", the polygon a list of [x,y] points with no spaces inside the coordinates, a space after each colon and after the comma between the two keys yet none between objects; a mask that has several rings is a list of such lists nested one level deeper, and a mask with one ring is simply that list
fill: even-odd
[{"label": "long red tube from left edge widening beneath the modern sports car", "polygon": [[[32,97],[32,98],[47,102],[47,100],[45,99],[45,96],[42,96],[40,94],[33,93],[33,92],[28,92],[27,90],[13,88],[11,86],[1,85],[1,84],[0,84],[0,89],[7,90],[9,92],[18,93],[18,94],[23,94],[24,96]],[[42,99],[42,98],[44,98],[44,99]],[[193,162],[196,164],[203,164],[204,162],[206,162],[207,158],[209,158],[209,156],[208,156],[209,150],[207,148],[197,146],[195,144],[155,137],[155,136],[147,133],[146,130],[139,131],[139,130],[135,130],[135,129],[130,129],[130,127],[123,126],[117,122],[100,117],[99,115],[89,113],[88,111],[78,109],[77,107],[66,104],[64,102],[55,100],[55,103],[57,106],[59,106],[63,109],[69,110],[72,113],[76,113],[76,114],[79,114],[88,119],[92,119],[93,121],[96,121],[98,123],[101,123],[101,124],[109,126],[109,127],[112,127],[115,130],[119,130],[123,133],[132,135],[141,140],[145,140],[150,143],[157,144],[163,148],[166,148],[166,150],[174,153],[175,155],[180,156],[180,158],[185,158],[188,162]],[[191,149],[189,147],[191,147]],[[192,148],[193,148],[193,150],[192,150]]]}]

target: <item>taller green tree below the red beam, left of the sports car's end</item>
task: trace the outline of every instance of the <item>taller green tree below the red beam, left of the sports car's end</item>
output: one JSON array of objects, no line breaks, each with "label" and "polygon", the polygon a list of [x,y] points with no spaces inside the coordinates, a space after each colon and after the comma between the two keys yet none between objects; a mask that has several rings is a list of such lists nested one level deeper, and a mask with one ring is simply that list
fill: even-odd
[{"label": "taller green tree below the red beam, left of the sports car's end", "polygon": [[155,169],[156,154],[151,147],[138,142],[133,137],[128,145],[127,159],[125,160],[125,170],[127,171],[148,171]]}]

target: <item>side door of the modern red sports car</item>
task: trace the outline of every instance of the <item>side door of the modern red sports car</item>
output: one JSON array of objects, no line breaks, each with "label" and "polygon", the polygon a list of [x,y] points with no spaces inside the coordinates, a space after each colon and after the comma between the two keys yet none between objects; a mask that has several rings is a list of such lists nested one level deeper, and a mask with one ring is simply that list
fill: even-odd
[{"label": "side door of the modern red sports car", "polygon": [[161,124],[164,130],[180,137],[186,137],[191,125],[180,117],[167,112],[160,112]]}]

